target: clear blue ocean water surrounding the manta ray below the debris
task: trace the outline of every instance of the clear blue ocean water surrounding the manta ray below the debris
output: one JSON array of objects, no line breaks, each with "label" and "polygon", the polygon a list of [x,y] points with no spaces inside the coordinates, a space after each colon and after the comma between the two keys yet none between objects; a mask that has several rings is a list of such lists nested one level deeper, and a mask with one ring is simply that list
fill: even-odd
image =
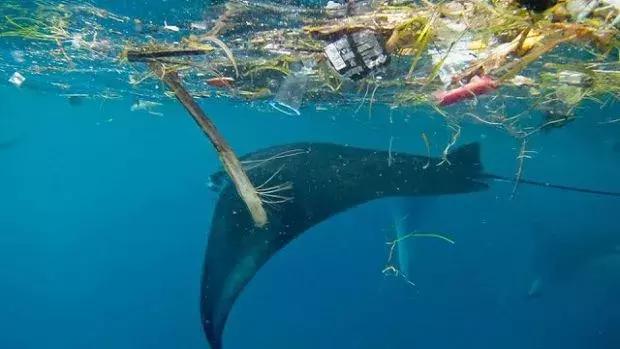
[{"label": "clear blue ocean water surrounding the manta ray below the debris", "polygon": [[[6,83],[0,96],[0,348],[208,348],[199,291],[219,162],[182,107],[154,116],[131,98],[75,105]],[[422,132],[440,154],[450,137],[420,111],[202,105],[239,154],[296,141],[425,154]],[[618,111],[586,104],[532,138],[524,177],[620,191],[620,124],[597,123]],[[469,124],[459,144],[471,141],[489,172],[514,174],[519,143]],[[312,228],[245,289],[225,347],[620,348],[620,201],[511,192],[383,199]],[[395,215],[456,242],[406,242],[415,285],[382,273]]]}]

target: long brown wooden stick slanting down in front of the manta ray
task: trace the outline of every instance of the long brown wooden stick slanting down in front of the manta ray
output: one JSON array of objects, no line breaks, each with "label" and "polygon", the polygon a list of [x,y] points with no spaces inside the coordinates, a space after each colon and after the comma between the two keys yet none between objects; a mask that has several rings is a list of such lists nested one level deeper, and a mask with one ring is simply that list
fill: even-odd
[{"label": "long brown wooden stick slanting down in front of the manta ray", "polygon": [[254,224],[257,227],[265,226],[267,224],[267,212],[263,207],[263,202],[258,196],[256,188],[252,185],[252,182],[250,182],[250,179],[243,170],[239,159],[237,159],[237,156],[226,140],[220,135],[215,124],[204,113],[189,92],[187,92],[179,75],[175,71],[166,71],[163,64],[159,62],[151,62],[149,63],[149,67],[155,75],[168,85],[179,102],[183,104],[192,118],[194,118],[194,121],[196,121],[202,131],[209,137],[220,156],[220,161],[224,165],[224,169],[235,185],[237,193],[239,193],[239,196],[241,196],[241,199],[250,211]]}]

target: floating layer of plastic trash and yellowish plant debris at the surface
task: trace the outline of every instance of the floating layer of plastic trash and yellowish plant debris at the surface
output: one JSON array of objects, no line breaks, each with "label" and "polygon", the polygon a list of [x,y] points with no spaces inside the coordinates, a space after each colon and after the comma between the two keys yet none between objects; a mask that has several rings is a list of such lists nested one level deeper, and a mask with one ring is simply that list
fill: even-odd
[{"label": "floating layer of plastic trash and yellowish plant debris at the surface", "polygon": [[[70,81],[71,86],[60,87],[63,94],[91,88],[67,75],[102,71],[129,78],[130,86],[102,86],[104,92],[92,91],[91,98],[108,98],[109,90],[157,101],[161,85],[151,83],[152,74],[118,64],[127,60],[158,62],[166,72],[179,72],[193,96],[217,93],[264,101],[255,105],[271,103],[291,115],[299,115],[302,98],[330,110],[449,105],[490,92],[494,84],[475,83],[485,76],[501,85],[507,97],[485,99],[485,105],[478,106],[494,112],[508,101],[544,111],[553,103],[620,98],[620,61],[615,55],[620,31],[611,27],[620,18],[620,0],[325,0],[320,6],[231,1],[209,7],[202,18],[188,18],[183,25],[162,18],[165,28],[161,22],[125,18],[89,5],[93,18],[84,15],[84,6],[71,2],[37,2],[30,21],[20,17],[29,13],[20,9],[22,2],[9,3],[13,5],[0,5],[6,12],[0,16],[0,26],[7,28],[3,39],[33,41],[42,49],[19,48],[21,41],[16,41],[11,47],[24,51],[28,64],[9,57],[4,71],[20,71],[37,86],[39,79],[54,87]],[[526,3],[553,7],[531,17],[523,8]],[[26,27],[29,30],[20,29]],[[306,61],[314,64],[312,73],[295,73],[293,67]],[[67,74],[56,74],[65,69]],[[141,108],[140,103],[134,106]],[[461,109],[436,110],[454,123],[461,119]],[[511,135],[527,135],[540,122],[538,117],[517,119],[506,125]]]}]

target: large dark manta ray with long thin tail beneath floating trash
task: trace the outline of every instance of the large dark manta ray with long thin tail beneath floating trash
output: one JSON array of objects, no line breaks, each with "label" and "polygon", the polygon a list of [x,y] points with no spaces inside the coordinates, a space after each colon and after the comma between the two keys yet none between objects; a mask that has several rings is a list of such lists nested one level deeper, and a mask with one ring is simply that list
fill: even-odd
[{"label": "large dark manta ray with long thin tail beneath floating trash", "polygon": [[[202,326],[212,349],[222,348],[228,315],[244,287],[280,249],[306,230],[349,208],[386,197],[466,194],[489,188],[477,143],[443,158],[329,143],[274,146],[240,159],[264,204],[269,224],[258,228],[225,174],[212,219],[201,285]],[[545,187],[620,195],[522,180]]]}]

